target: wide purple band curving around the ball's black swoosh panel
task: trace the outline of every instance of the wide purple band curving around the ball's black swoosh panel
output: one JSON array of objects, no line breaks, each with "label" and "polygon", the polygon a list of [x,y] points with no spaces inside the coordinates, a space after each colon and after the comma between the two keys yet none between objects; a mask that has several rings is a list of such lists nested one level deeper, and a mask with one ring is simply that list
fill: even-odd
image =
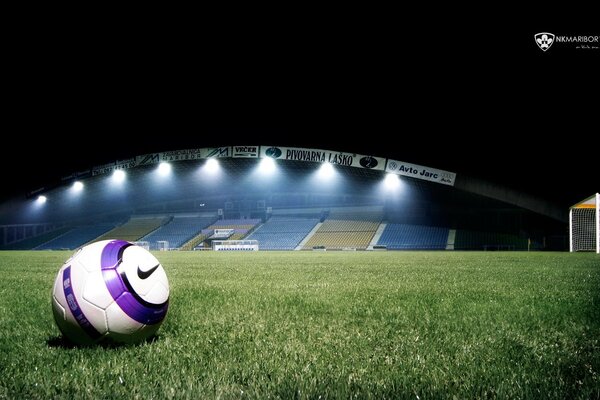
[{"label": "wide purple band curving around the ball's black swoosh panel", "polygon": [[168,301],[163,304],[145,302],[127,282],[125,273],[121,275],[117,271],[123,252],[129,246],[132,246],[129,242],[114,240],[104,247],[101,256],[102,277],[110,295],[125,314],[142,324],[156,324],[167,315]]}]

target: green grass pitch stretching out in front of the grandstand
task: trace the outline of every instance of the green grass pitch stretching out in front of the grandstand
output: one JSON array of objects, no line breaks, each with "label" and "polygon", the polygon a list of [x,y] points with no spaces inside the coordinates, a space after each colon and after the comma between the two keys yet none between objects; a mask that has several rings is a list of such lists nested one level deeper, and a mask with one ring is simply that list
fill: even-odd
[{"label": "green grass pitch stretching out in front of the grandstand", "polygon": [[0,399],[600,398],[600,257],[156,253],[152,342],[65,346],[67,252],[0,252]]}]

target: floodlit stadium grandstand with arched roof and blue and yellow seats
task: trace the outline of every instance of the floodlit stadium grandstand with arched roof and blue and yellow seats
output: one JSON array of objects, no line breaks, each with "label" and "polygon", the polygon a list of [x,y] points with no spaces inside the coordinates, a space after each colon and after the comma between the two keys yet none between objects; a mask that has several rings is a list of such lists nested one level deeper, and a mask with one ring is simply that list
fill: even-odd
[{"label": "floodlit stadium grandstand with arched roof and blue and yellow seats", "polygon": [[450,171],[330,150],[230,146],[138,155],[0,206],[0,248],[107,238],[152,250],[566,250],[567,213]]}]

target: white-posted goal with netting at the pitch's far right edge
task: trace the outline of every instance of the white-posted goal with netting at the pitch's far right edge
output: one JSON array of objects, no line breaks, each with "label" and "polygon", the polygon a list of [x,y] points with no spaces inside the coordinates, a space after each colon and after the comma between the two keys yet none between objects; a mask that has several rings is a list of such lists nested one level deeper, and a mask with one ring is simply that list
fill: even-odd
[{"label": "white-posted goal with netting at the pitch's far right edge", "polygon": [[569,209],[569,250],[600,253],[600,194]]}]

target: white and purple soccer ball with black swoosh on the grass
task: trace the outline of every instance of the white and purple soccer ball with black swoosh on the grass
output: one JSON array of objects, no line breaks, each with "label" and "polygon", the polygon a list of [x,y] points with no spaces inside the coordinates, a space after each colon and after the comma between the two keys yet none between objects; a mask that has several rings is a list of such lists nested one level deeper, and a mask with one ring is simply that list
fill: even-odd
[{"label": "white and purple soccer ball with black swoosh on the grass", "polygon": [[156,333],[169,307],[169,281],[158,260],[123,240],[79,249],[58,271],[54,320],[74,343],[136,343]]}]

